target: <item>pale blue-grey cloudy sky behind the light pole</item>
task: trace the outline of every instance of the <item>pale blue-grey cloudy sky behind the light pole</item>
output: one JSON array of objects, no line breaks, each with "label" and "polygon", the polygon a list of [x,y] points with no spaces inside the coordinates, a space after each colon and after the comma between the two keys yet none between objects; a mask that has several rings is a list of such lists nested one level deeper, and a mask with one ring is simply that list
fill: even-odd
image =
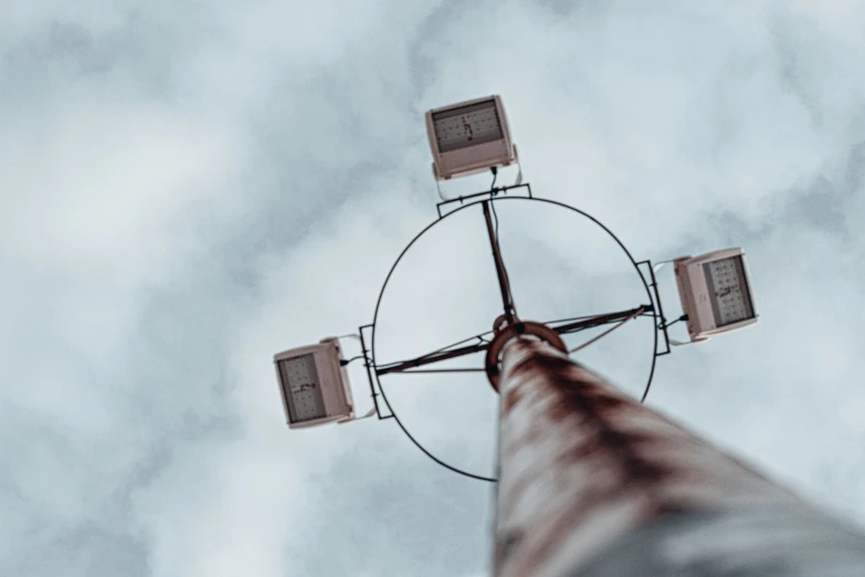
[{"label": "pale blue-grey cloudy sky behind the light pole", "polygon": [[[490,485],[392,420],[289,431],[272,358],[372,321],[435,218],[423,113],[487,94],[534,192],[637,260],[747,250],[761,323],[662,358],[650,403],[865,524],[863,61],[855,0],[3,2],[0,574],[485,574]],[[645,301],[526,204],[498,210],[524,317]],[[407,254],[379,361],[489,328],[486,242],[468,209]],[[651,333],[581,359],[639,391]],[[392,379],[490,471],[482,377]]]}]

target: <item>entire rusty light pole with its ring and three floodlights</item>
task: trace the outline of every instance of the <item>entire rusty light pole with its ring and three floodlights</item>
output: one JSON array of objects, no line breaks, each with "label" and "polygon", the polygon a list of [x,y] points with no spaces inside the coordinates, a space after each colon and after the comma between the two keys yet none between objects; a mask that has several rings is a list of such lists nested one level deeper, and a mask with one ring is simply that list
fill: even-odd
[{"label": "entire rusty light pole with its ring and three floodlights", "polygon": [[[436,182],[492,169],[493,186],[456,198],[442,195],[437,220],[399,255],[384,280],[372,324],[359,327],[356,336],[361,354],[356,358],[363,360],[369,380],[373,410],[368,416],[393,419],[436,463],[466,476],[497,482],[496,575],[865,575],[865,541],[856,531],[825,518],[790,492],[641,403],[648,394],[657,358],[669,354],[671,345],[705,342],[757,322],[743,251],[726,249],[664,261],[674,263],[682,304],[683,314],[673,323],[685,321],[689,337],[687,342],[674,340],[668,331],[673,323],[664,315],[655,275],[663,263],[637,262],[598,219],[561,202],[536,198],[521,176],[513,186],[495,186],[497,169],[518,161],[500,98],[430,111],[426,126]],[[600,227],[631,262],[645,290],[645,301],[579,318],[520,318],[498,241],[496,214],[496,203],[520,201],[567,209]],[[382,297],[407,251],[434,225],[478,208],[502,301],[502,314],[490,319],[492,331],[411,358],[378,363]],[[636,401],[569,355],[641,317],[652,318],[654,342],[646,386]],[[561,338],[599,327],[608,328],[576,349],[569,350]],[[483,354],[484,360],[476,367],[436,366],[477,354]],[[356,418],[345,370],[352,359],[342,357],[339,339],[294,348],[274,360],[291,427]],[[388,400],[381,377],[418,373],[486,375],[499,392],[497,478],[464,471],[412,437]],[[789,533],[789,527],[794,533]],[[742,535],[750,536],[743,539]],[[826,570],[816,570],[817,565]],[[767,573],[769,569],[781,573]]]}]

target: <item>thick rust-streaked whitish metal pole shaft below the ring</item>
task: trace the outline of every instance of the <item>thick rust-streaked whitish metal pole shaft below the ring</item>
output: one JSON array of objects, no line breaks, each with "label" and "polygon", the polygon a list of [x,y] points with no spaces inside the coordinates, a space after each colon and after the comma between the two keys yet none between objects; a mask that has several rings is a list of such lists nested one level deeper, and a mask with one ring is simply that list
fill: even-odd
[{"label": "thick rust-streaked whitish metal pole shaft below the ring", "polygon": [[865,575],[856,529],[546,343],[499,391],[496,576]]}]

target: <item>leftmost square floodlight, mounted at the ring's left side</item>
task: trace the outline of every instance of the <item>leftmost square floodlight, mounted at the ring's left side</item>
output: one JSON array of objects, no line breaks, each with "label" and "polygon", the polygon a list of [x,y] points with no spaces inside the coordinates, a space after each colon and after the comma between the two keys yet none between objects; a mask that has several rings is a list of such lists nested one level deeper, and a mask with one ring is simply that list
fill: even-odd
[{"label": "leftmost square floodlight, mounted at the ring's left side", "polygon": [[288,427],[314,427],[355,418],[348,375],[336,338],[273,357]]}]

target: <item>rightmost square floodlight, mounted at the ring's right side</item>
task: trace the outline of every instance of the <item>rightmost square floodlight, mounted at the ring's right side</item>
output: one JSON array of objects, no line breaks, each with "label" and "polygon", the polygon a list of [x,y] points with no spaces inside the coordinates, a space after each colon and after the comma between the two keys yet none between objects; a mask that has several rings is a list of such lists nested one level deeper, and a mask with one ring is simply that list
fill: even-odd
[{"label": "rightmost square floodlight, mounted at the ring's right side", "polygon": [[692,342],[757,323],[745,251],[679,256],[673,263]]}]

